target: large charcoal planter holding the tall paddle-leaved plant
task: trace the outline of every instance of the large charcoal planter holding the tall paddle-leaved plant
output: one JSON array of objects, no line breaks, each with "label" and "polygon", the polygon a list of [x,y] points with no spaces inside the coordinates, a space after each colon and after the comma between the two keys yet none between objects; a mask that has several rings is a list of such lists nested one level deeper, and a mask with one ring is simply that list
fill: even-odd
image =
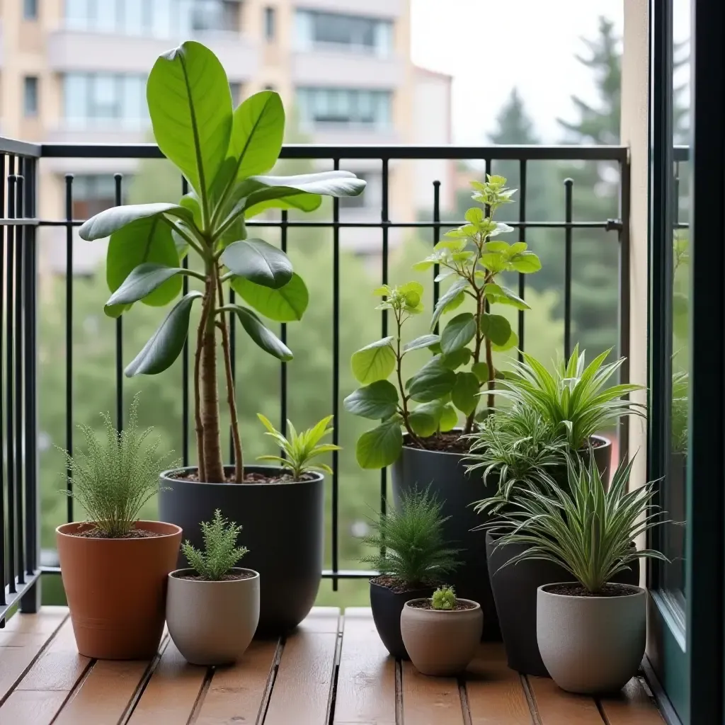
[{"label": "large charcoal planter holding the tall paddle-leaved plant", "polygon": [[[195,471],[185,468],[183,471]],[[230,469],[227,469],[230,471]],[[245,473],[273,476],[280,469],[248,466]],[[279,484],[204,484],[161,474],[159,515],[183,529],[183,539],[202,545],[200,523],[215,509],[243,527],[239,542],[249,549],[245,568],[260,573],[257,634],[273,637],[294,629],[317,597],[323,566],[325,479]],[[178,567],[188,566],[179,555]]]}]

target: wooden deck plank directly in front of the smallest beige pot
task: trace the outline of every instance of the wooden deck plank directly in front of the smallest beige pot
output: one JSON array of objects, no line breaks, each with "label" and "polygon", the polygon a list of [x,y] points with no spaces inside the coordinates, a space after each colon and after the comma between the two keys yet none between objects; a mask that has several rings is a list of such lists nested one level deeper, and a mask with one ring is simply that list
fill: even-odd
[{"label": "wooden deck plank directly in front of the smallest beige pot", "polygon": [[402,663],[405,725],[463,725],[458,682],[452,677],[426,677],[410,662]]}]

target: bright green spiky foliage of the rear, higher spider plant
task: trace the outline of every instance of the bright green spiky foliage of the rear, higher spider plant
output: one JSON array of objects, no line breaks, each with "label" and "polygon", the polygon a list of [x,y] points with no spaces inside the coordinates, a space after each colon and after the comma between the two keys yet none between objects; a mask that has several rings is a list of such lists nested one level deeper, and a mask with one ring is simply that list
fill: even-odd
[{"label": "bright green spiky foliage of the rear, higher spider plant", "polygon": [[625,360],[620,357],[605,364],[610,352],[605,350],[585,365],[585,353],[579,352],[577,344],[571,357],[560,360],[553,373],[524,352],[522,362],[511,362],[513,374],[501,381],[502,387],[495,393],[514,405],[536,410],[544,425],[566,437],[571,450],[581,450],[592,435],[621,416],[645,415],[645,405],[625,398],[642,386],[625,383],[607,387]]}]

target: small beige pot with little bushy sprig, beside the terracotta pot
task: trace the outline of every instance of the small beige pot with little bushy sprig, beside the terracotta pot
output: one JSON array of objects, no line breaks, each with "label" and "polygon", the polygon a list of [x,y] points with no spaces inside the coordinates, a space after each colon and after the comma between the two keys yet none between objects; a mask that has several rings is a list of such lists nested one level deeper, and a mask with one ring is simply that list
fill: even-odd
[{"label": "small beige pot with little bushy sprig, beside the terracotta pot", "polygon": [[181,544],[191,568],[169,574],[166,621],[183,657],[193,665],[227,665],[247,651],[260,621],[260,575],[236,564],[241,526],[219,509],[202,521],[204,550]]}]

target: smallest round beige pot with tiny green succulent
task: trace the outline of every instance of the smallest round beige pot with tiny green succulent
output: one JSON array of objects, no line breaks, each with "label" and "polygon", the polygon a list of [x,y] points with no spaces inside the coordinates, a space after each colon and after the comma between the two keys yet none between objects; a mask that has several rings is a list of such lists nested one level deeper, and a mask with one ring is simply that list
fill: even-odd
[{"label": "smallest round beige pot with tiny green succulent", "polygon": [[405,602],[400,632],[410,661],[424,675],[450,677],[463,672],[481,642],[481,605],[459,599],[453,587],[440,587],[428,599]]}]

